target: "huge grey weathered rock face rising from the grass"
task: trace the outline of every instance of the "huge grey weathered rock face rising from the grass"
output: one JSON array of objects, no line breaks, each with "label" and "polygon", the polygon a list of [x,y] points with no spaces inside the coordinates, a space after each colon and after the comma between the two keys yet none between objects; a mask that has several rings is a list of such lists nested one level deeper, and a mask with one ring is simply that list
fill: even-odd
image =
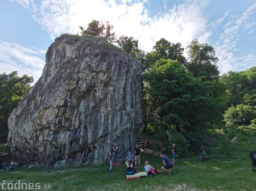
[{"label": "huge grey weathered rock face rising from the grass", "polygon": [[141,65],[92,36],[62,35],[42,77],[9,117],[11,152],[23,163],[101,164],[119,159],[143,129]]}]

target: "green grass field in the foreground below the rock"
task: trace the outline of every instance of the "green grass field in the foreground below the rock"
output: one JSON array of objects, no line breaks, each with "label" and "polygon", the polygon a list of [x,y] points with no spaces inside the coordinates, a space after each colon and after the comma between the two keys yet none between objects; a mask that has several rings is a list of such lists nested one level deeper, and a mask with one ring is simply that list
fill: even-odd
[{"label": "green grass field in the foreground below the rock", "polygon": [[[159,173],[151,177],[125,179],[125,164],[114,166],[109,172],[109,164],[100,166],[81,165],[79,167],[16,168],[13,171],[0,172],[3,188],[9,190],[16,184],[29,185],[30,190],[256,190],[256,172],[251,169],[249,152],[256,150],[255,144],[230,143],[210,150],[210,159],[199,162],[199,156],[177,158],[172,168],[173,175]],[[167,155],[168,156],[168,155]],[[148,160],[157,169],[162,167],[159,155],[142,152],[141,168]],[[39,189],[40,186],[40,189]],[[25,187],[24,187],[25,188]],[[47,188],[47,189],[46,189]],[[0,190],[2,187],[0,188]],[[7,189],[8,190],[8,189]],[[19,189],[26,190],[26,189]],[[28,190],[28,189],[27,189]]]}]

